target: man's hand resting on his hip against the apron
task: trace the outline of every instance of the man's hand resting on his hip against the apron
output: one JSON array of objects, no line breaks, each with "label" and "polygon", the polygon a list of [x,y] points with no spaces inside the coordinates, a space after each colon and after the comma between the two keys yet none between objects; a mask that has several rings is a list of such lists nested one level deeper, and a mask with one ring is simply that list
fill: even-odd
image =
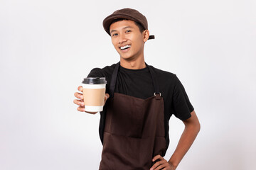
[{"label": "man's hand resting on his hip against the apron", "polygon": [[156,169],[163,169],[163,170],[175,170],[176,168],[171,165],[169,162],[166,161],[166,159],[164,159],[163,157],[161,157],[161,155],[156,155],[156,157],[154,157],[152,159],[152,162],[155,162],[157,159],[160,159],[159,162],[156,162],[150,170],[156,170]]}]

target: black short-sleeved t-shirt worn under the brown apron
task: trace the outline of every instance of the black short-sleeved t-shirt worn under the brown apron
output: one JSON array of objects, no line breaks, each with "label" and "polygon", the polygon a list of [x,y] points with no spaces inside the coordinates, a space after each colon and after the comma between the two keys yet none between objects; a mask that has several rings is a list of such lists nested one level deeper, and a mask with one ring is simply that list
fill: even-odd
[{"label": "black short-sleeved t-shirt worn under the brown apron", "polygon": [[[92,69],[88,77],[105,77],[107,80],[106,93],[110,92],[110,82],[114,67],[117,64],[104,67],[103,69]],[[166,148],[169,146],[169,120],[171,115],[175,115],[180,120],[186,120],[191,117],[193,106],[191,105],[186,91],[178,80],[176,74],[162,71],[153,67],[156,79],[159,84],[161,96],[164,98],[164,127],[166,132]],[[149,68],[144,69],[126,69],[119,67],[117,74],[117,84],[114,92],[126,94],[137,98],[149,98],[154,96],[154,85],[149,72]],[[106,103],[107,105],[107,103]],[[105,127],[105,111],[101,112],[100,118],[100,139],[103,140]]]}]

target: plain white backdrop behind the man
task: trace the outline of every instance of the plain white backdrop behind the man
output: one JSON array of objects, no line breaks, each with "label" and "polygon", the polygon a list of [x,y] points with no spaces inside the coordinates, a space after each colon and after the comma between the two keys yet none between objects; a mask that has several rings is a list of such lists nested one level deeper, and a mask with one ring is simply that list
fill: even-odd
[{"label": "plain white backdrop behind the man", "polygon": [[[124,7],[146,16],[146,62],[177,74],[201,121],[178,169],[256,169],[254,0],[1,0],[0,169],[98,169],[100,115],[76,111],[73,94],[119,61],[102,21]],[[166,159],[183,123],[170,128]]]}]

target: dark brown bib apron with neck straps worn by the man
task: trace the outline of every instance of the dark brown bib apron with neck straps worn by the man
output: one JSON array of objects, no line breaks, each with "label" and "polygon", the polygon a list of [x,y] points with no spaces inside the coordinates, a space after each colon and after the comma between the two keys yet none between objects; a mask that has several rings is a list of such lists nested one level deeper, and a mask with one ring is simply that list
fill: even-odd
[{"label": "dark brown bib apron with neck straps worn by the man", "polygon": [[[149,170],[166,152],[164,99],[151,66],[155,94],[142,99],[114,93],[119,63],[112,74],[100,170]],[[143,88],[143,87],[142,87]]]}]

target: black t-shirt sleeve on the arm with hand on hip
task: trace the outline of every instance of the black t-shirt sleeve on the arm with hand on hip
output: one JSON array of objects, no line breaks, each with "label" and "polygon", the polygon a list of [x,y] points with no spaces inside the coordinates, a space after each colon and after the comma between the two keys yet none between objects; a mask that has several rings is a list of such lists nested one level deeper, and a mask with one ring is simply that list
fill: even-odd
[{"label": "black t-shirt sleeve on the arm with hand on hip", "polygon": [[180,120],[186,120],[191,117],[191,112],[194,110],[188,95],[181,84],[181,81],[176,77],[176,83],[174,86],[173,106],[174,115]]}]

